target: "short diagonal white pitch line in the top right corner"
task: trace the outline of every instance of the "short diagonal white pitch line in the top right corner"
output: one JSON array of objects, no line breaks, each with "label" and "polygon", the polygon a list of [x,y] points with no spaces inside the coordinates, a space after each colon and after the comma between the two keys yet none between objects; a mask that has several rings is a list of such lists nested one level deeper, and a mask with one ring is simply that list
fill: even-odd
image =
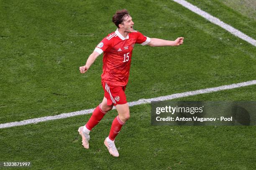
[{"label": "short diagonal white pitch line in the top right corner", "polygon": [[206,13],[205,11],[201,10],[195,5],[192,5],[191,3],[185,1],[185,0],[173,0],[174,2],[179,3],[180,5],[186,7],[187,9],[191,10],[192,12],[202,16],[203,18],[209,20],[211,23],[214,23],[216,25],[219,25],[221,28],[224,28],[228,32],[230,32],[233,35],[236,35],[237,37],[249,42],[251,45],[256,46],[256,40],[249,37],[248,35],[245,35],[243,32],[237,30],[236,28],[231,27],[230,25],[223,23],[220,19]]}]

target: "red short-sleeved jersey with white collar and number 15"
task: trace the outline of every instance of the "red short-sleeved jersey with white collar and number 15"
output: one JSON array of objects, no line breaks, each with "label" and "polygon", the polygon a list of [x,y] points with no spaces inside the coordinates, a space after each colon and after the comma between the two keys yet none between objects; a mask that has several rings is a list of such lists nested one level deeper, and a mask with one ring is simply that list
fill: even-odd
[{"label": "red short-sleeved jersey with white collar and number 15", "polygon": [[95,48],[100,54],[104,52],[101,80],[110,85],[127,85],[134,44],[146,45],[148,42],[149,37],[135,30],[123,37],[117,29],[105,37]]}]

